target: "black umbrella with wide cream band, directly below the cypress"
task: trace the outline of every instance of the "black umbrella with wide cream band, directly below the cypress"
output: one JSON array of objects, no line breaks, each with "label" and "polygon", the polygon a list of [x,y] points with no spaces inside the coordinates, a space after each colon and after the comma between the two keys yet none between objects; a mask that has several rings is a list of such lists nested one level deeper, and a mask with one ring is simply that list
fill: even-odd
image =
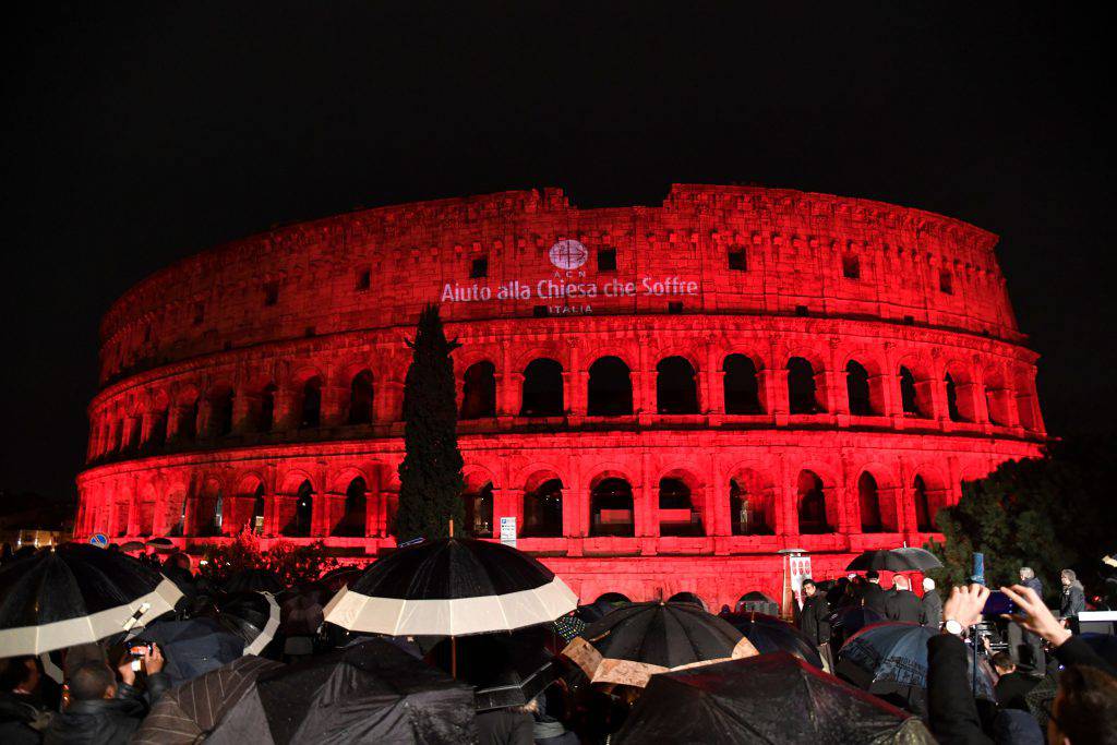
[{"label": "black umbrella with wide cream band, directly below the cypress", "polygon": [[424,542],[376,561],[325,608],[350,631],[464,636],[548,623],[577,606],[551,570],[512,546]]}]

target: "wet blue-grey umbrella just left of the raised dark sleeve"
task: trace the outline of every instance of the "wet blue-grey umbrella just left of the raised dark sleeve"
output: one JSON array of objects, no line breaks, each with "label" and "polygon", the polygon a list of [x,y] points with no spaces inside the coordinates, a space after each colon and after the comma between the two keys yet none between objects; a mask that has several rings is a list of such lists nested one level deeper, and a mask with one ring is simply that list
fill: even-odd
[{"label": "wet blue-grey umbrella just left of the raised dark sleeve", "polygon": [[[842,644],[838,652],[837,671],[873,694],[926,688],[927,640],[935,634],[935,631],[917,623],[868,625]],[[976,694],[995,700],[993,684],[981,667]]]}]

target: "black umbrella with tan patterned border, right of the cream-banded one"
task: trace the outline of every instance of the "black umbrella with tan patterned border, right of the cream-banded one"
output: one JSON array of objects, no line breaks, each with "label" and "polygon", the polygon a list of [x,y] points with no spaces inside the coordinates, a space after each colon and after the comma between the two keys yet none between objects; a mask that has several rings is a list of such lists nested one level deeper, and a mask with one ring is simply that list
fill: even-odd
[{"label": "black umbrella with tan patterned border, right of the cream-banded one", "polygon": [[631,603],[585,627],[564,655],[593,682],[645,686],[656,672],[756,653],[727,621],[693,603]]}]

